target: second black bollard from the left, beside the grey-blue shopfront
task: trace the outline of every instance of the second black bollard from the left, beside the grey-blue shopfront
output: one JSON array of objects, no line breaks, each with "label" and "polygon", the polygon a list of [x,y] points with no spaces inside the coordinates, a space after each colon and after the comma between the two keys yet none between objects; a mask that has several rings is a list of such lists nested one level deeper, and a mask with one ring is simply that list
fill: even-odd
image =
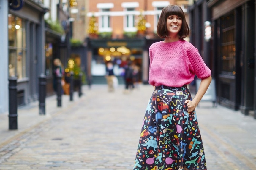
[{"label": "second black bollard from the left, beside the grey-blue shopfront", "polygon": [[46,76],[39,76],[39,114],[45,114]]}]

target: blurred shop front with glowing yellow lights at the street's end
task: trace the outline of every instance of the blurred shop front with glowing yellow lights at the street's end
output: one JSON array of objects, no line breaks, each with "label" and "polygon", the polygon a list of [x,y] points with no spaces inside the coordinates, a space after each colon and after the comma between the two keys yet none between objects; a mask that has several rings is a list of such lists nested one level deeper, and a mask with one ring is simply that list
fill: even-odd
[{"label": "blurred shop front with glowing yellow lights at the street's end", "polygon": [[[124,69],[128,63],[132,64],[134,69],[138,69],[138,82],[143,81],[144,58],[148,60],[148,54],[145,54],[144,38],[138,39],[120,39],[88,40],[88,65],[87,72],[92,84],[106,84],[106,62],[111,61],[114,65],[114,74],[118,77],[119,84],[123,84]],[[148,51],[148,49],[146,49]]]}]

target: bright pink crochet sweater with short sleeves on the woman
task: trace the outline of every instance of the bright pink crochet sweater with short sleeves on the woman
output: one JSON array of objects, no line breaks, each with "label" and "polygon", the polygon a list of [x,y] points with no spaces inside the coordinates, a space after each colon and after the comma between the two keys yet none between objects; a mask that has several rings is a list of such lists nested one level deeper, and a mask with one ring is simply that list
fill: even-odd
[{"label": "bright pink crochet sweater with short sleeves on the woman", "polygon": [[194,80],[209,77],[211,70],[191,43],[185,40],[164,43],[159,41],[149,47],[149,84],[181,87]]}]

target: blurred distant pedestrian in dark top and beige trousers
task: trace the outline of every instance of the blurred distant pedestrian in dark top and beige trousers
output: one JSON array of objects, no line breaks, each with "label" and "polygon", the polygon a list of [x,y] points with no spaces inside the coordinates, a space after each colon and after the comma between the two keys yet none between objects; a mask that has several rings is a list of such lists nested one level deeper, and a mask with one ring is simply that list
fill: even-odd
[{"label": "blurred distant pedestrian in dark top and beige trousers", "polygon": [[108,91],[113,92],[114,91],[114,66],[111,61],[108,61],[106,63],[106,80],[108,84]]}]

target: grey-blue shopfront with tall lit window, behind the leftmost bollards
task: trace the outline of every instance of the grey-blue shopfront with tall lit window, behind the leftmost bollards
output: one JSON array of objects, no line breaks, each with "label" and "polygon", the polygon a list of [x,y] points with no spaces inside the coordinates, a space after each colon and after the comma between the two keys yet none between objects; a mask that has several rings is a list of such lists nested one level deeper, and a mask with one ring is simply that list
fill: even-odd
[{"label": "grey-blue shopfront with tall lit window, behind the leftmost bollards", "polygon": [[45,72],[45,8],[26,1],[8,11],[9,77],[17,77],[18,106],[38,99],[38,78]]}]

